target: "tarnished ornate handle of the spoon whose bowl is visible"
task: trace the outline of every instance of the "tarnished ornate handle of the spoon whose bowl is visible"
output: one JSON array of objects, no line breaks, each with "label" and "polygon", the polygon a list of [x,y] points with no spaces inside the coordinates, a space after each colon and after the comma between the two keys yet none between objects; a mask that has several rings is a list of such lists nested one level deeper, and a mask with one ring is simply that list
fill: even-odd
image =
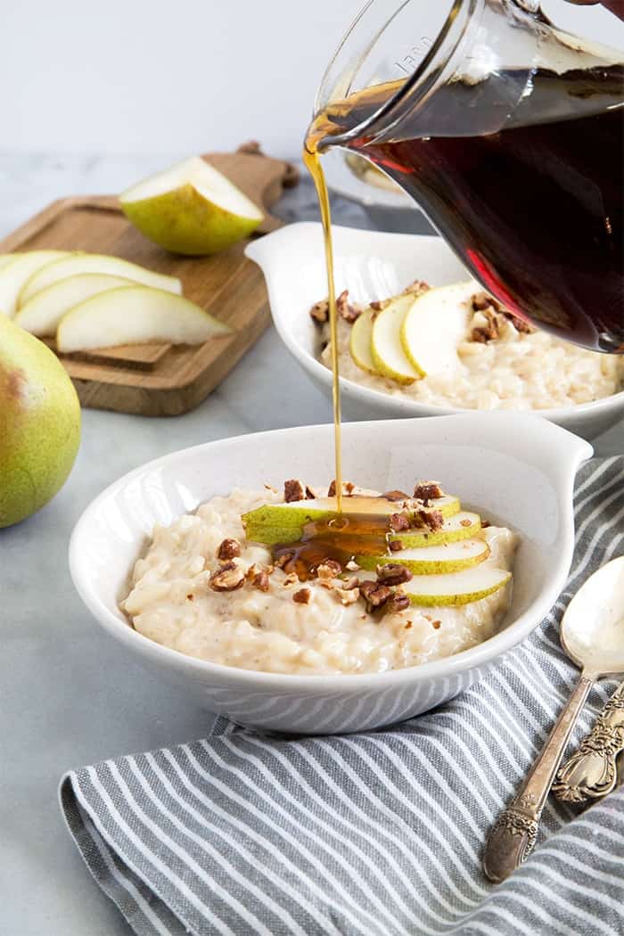
[{"label": "tarnished ornate handle of the spoon whose bowl is visible", "polygon": [[578,680],[529,776],[492,826],[483,868],[486,877],[496,884],[522,864],[535,844],[548,791],[592,683],[593,679],[585,675]]}]

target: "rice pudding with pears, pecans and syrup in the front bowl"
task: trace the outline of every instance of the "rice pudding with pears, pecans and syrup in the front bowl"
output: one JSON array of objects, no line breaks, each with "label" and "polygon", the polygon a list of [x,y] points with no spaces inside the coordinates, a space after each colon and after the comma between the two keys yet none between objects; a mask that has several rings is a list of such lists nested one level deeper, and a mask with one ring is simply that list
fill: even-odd
[{"label": "rice pudding with pears, pecans and syrup in the front bowl", "polygon": [[381,673],[493,636],[516,534],[437,486],[414,497],[350,488],[351,528],[333,539],[335,498],[297,480],[283,494],[233,490],[156,526],[123,611],[171,650],[297,675]]}]

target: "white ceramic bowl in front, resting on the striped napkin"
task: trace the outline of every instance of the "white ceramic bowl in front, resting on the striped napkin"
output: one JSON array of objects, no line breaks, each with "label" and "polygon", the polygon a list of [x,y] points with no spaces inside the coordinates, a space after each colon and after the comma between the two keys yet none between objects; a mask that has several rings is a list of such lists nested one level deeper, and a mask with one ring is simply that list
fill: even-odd
[{"label": "white ceramic bowl in front, resting on the striped napkin", "polygon": [[410,718],[457,695],[526,637],[556,601],[573,554],[573,478],[588,443],[543,419],[464,414],[343,427],[345,477],[378,490],[436,477],[522,537],[513,603],[500,633],[456,656],[361,676],[288,676],[214,665],[167,650],[118,607],[153,524],[171,523],[215,494],[286,477],[333,476],[333,427],[239,436],[187,448],[125,475],[94,500],[72,535],[69,564],[85,605],[164,683],[183,686],[239,724],[289,733],[360,731]]}]

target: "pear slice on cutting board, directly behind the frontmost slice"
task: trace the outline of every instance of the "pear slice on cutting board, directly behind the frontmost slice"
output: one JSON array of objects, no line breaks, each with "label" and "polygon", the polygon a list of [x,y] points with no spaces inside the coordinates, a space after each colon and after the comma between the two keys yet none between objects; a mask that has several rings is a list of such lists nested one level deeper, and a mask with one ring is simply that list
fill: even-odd
[{"label": "pear slice on cutting board, directly behind the frontmost slice", "polygon": [[65,313],[75,305],[107,289],[134,285],[137,284],[123,276],[107,276],[105,273],[68,276],[66,280],[59,280],[36,293],[18,310],[15,321],[33,335],[53,335]]}]

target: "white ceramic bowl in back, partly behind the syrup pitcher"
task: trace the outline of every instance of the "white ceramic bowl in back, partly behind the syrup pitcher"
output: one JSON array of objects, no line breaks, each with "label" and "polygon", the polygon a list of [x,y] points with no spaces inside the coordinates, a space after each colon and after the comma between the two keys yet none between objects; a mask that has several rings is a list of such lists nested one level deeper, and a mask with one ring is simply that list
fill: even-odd
[{"label": "white ceramic bowl in back, partly behind the syrup pitcher", "polygon": [[[246,249],[265,274],[275,327],[283,343],[327,396],[331,373],[318,360],[319,336],[308,314],[313,302],[327,296],[323,239],[319,224],[288,225],[253,241]],[[417,234],[334,227],[336,283],[348,288],[356,302],[399,292],[422,276],[431,285],[465,280],[466,270],[442,238]],[[360,387],[341,378],[342,411],[349,419],[443,416],[471,412],[454,406],[403,400],[378,390]],[[505,410],[508,420],[515,411]],[[624,391],[596,402],[557,409],[536,410],[586,439],[594,439],[624,418]]]}]

